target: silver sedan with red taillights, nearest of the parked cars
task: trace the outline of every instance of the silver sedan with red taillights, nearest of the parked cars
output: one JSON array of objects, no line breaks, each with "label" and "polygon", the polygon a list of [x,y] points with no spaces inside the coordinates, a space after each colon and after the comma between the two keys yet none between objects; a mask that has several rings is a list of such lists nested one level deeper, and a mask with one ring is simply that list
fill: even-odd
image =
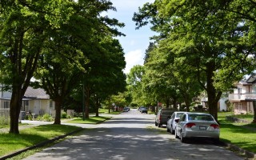
[{"label": "silver sedan with red taillights, nearest of the parked cars", "polygon": [[192,113],[182,114],[175,130],[175,138],[186,142],[187,138],[212,138],[219,140],[220,128],[211,114]]}]

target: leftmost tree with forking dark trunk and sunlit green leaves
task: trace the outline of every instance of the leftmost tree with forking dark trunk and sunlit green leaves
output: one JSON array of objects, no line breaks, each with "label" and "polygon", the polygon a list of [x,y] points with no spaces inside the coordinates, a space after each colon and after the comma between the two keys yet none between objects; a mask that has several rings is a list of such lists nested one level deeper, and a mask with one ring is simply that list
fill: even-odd
[{"label": "leftmost tree with forking dark trunk and sunlit green leaves", "polygon": [[[18,117],[22,98],[30,85],[30,78],[38,66],[38,58],[47,37],[52,14],[45,8],[51,1],[1,2],[1,70],[2,83],[10,86],[10,133],[18,134]],[[54,14],[58,16],[58,14]],[[62,19],[65,21],[65,19]],[[56,23],[54,23],[56,24]]]}]

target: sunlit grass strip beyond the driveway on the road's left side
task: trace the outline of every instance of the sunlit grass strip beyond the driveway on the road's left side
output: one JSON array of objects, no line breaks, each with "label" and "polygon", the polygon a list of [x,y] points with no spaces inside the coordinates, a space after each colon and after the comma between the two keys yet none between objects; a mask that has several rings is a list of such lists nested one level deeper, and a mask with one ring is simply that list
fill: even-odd
[{"label": "sunlit grass strip beyond the driveway on the road's left side", "polygon": [[90,117],[90,118],[86,118],[85,120],[83,120],[83,118],[74,118],[70,121],[68,121],[67,123],[79,123],[79,124],[98,124],[99,122],[103,122],[106,121],[107,119],[110,119],[111,117],[103,117],[103,116],[99,116],[99,117]]}]

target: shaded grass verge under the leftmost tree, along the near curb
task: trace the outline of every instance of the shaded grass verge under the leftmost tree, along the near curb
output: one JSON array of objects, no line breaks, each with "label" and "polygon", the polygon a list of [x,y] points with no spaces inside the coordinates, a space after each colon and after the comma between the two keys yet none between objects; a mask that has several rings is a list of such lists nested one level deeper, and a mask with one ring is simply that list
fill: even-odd
[{"label": "shaded grass verge under the leftmost tree, along the near curb", "polygon": [[78,129],[80,129],[78,126],[42,125],[20,130],[20,134],[0,134],[0,156]]}]

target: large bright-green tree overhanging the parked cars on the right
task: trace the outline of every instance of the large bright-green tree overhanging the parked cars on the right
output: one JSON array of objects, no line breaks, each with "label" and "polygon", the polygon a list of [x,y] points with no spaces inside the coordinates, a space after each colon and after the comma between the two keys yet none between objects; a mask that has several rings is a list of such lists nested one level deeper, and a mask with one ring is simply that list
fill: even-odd
[{"label": "large bright-green tree overhanging the parked cars on the right", "polygon": [[228,72],[230,77],[226,84],[231,86],[241,77],[241,67],[250,72],[246,66],[251,64],[246,54],[251,46],[242,41],[247,27],[241,25],[242,18],[230,19],[222,8],[222,2],[164,0],[146,3],[138,14],[134,14],[138,27],[148,22],[153,24],[152,29],[159,33],[155,39],[165,42],[164,48],[171,50],[175,59],[182,58],[194,68],[193,73],[197,73],[199,84],[207,92],[210,114],[216,119],[218,100],[226,89],[217,87],[219,70],[227,63],[236,64],[230,65],[236,66],[236,70]]}]

